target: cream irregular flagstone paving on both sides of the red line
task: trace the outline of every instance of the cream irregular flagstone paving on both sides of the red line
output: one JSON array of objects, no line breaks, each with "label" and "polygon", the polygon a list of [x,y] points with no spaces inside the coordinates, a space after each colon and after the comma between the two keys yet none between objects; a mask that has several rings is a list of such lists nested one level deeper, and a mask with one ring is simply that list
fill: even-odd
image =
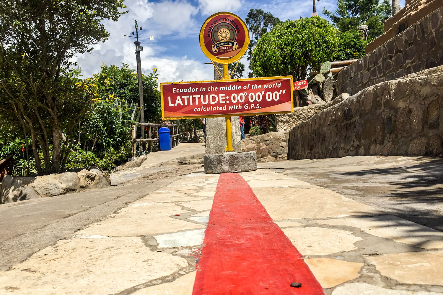
[{"label": "cream irregular flagstone paving on both sides of the red line", "polygon": [[[326,295],[443,295],[442,232],[275,169],[239,174]],[[129,203],[0,272],[0,294],[191,295],[217,182],[199,169]]]}]

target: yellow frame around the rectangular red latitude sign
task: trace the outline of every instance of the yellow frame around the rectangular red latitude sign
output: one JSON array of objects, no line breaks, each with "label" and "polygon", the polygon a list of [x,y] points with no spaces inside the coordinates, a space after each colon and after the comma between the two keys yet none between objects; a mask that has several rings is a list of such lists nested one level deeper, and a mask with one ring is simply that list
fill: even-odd
[{"label": "yellow frame around the rectangular red latitude sign", "polygon": [[[241,114],[223,114],[223,115],[205,115],[205,116],[190,116],[190,117],[166,117],[164,114],[163,104],[163,84],[190,84],[190,83],[214,83],[214,82],[235,82],[235,81],[251,81],[251,80],[270,80],[270,79],[291,79],[291,111],[279,111],[279,112],[264,112],[264,113],[241,113]],[[162,119],[163,120],[181,120],[181,119],[198,119],[198,118],[219,118],[229,116],[253,116],[253,115],[269,115],[269,114],[289,114],[294,112],[294,92],[292,91],[292,76],[277,76],[277,77],[259,77],[259,78],[245,78],[245,79],[223,79],[223,80],[205,80],[205,81],[187,81],[187,82],[163,82],[160,83],[160,102],[162,107]]]}]

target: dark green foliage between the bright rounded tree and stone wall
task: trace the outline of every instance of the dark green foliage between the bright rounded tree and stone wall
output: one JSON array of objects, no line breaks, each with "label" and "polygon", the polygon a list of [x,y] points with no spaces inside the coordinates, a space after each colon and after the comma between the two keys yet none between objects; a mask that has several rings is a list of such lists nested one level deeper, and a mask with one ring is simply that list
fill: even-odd
[{"label": "dark green foliage between the bright rounded tree and stone wall", "polygon": [[340,33],[338,52],[334,61],[345,61],[360,58],[365,55],[365,46],[369,41],[362,40],[361,33],[357,30]]}]

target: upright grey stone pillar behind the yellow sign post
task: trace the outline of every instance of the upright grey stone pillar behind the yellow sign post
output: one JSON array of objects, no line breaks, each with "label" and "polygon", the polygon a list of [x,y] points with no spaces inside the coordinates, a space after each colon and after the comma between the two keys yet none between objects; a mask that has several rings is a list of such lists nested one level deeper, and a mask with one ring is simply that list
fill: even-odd
[{"label": "upright grey stone pillar behind the yellow sign post", "polygon": [[[223,74],[223,65],[215,64]],[[221,80],[221,76],[214,67],[214,79]],[[232,148],[233,152],[241,153],[241,133],[239,117],[231,117]],[[226,124],[225,118],[206,118],[206,154],[226,153]]]}]

